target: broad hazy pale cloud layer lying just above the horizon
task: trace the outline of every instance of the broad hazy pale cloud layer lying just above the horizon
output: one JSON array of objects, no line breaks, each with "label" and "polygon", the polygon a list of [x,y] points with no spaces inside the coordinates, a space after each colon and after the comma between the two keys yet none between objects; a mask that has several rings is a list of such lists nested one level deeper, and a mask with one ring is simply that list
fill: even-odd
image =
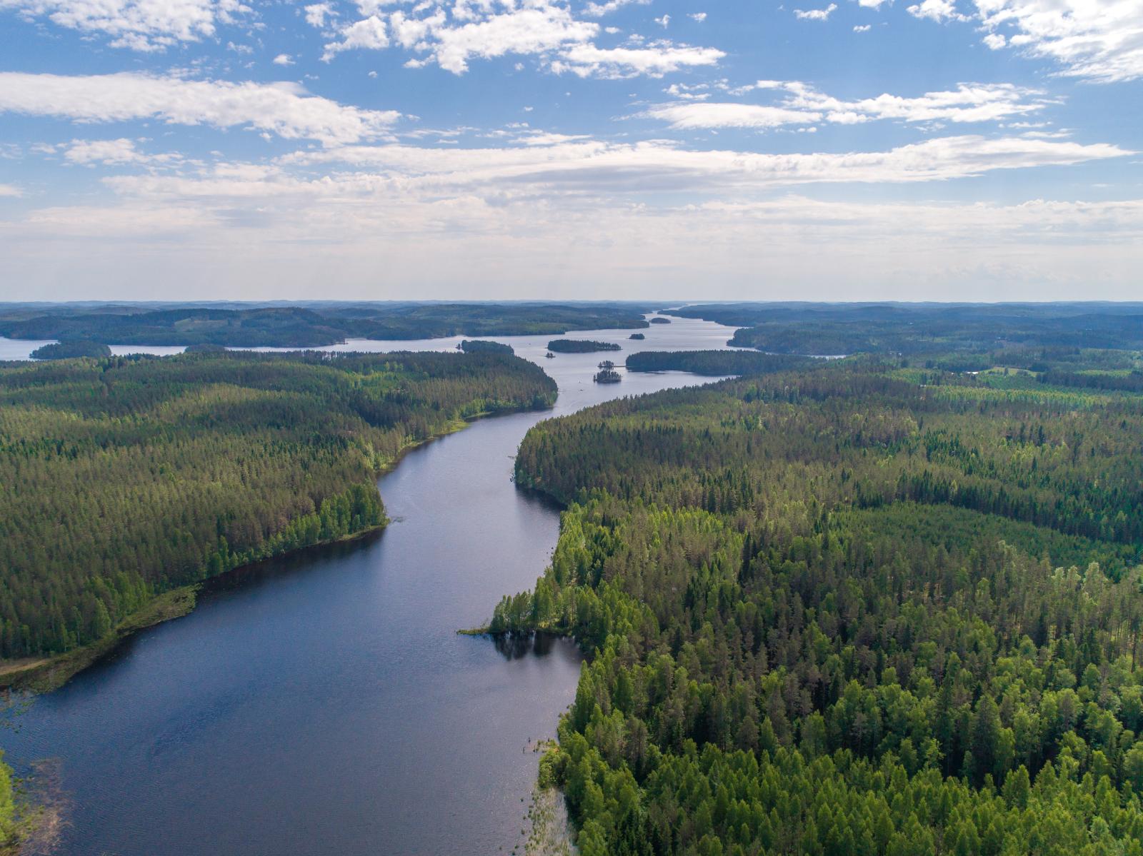
[{"label": "broad hazy pale cloud layer lying just above the horizon", "polygon": [[[536,197],[511,183],[440,197],[383,175],[288,182],[237,169],[198,187],[149,178],[115,190],[112,205],[0,221],[6,270],[25,289],[5,296],[81,298],[99,283],[115,297],[138,297],[161,274],[195,297],[232,297],[237,283],[254,283],[242,296],[301,298],[328,291],[336,269],[331,296],[343,298],[534,297],[542,269],[549,297],[649,298],[694,294],[704,282],[712,299],[1074,299],[1079,289],[1125,299],[1143,267],[1138,199],[990,205],[767,194],[647,206]],[[378,270],[393,283],[381,293]],[[82,285],[61,290],[69,281]]]}]

